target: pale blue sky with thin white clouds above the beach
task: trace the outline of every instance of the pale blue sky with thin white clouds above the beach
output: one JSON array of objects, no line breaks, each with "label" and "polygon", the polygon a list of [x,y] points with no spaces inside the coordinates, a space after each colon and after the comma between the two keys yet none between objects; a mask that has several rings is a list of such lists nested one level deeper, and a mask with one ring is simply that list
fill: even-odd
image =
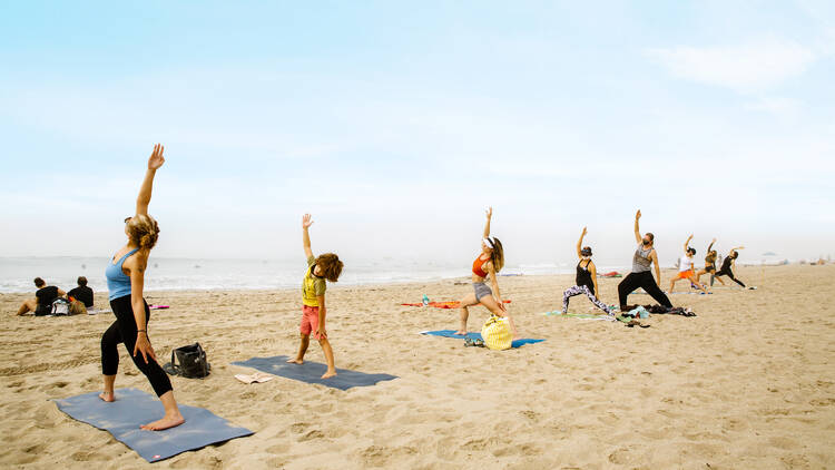
[{"label": "pale blue sky with thin white clouds above the beach", "polygon": [[118,248],[156,141],[157,256],[828,254],[831,4],[3,2],[0,256]]}]

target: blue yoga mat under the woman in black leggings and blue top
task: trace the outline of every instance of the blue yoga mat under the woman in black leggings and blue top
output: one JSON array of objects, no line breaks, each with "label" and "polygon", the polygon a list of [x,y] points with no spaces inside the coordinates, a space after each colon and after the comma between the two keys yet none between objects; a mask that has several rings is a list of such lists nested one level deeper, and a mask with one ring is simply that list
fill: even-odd
[{"label": "blue yoga mat under the woman in black leggings and blue top", "polygon": [[140,424],[163,418],[159,400],[137,389],[116,390],[116,401],[107,403],[99,392],[55,401],[73,420],[108,431],[117,441],[134,449],[143,459],[158,462],[178,453],[253,434],[246,428],[229,424],[213,412],[179,405],[186,422],[165,431],[145,431]]}]

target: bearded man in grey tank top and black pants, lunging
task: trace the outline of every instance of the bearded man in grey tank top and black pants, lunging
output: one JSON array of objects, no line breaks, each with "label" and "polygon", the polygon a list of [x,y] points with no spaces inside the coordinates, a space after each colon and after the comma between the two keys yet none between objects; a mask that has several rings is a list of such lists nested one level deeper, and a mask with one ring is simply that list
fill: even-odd
[{"label": "bearded man in grey tank top and black pants, lunging", "polygon": [[[661,292],[658,284],[661,282],[661,270],[658,267],[658,253],[654,248],[655,235],[647,232],[641,237],[640,227],[638,222],[641,218],[641,212],[638,210],[635,214],[635,241],[638,242],[638,249],[635,251],[632,256],[632,272],[628,276],[623,277],[623,281],[618,284],[618,301],[620,301],[620,310],[625,311],[627,305],[627,296],[638,287],[644,287],[656,302],[671,309],[672,304],[667,295]],[[652,278],[652,273],[649,271],[649,265],[654,264],[656,268],[656,277]]]}]

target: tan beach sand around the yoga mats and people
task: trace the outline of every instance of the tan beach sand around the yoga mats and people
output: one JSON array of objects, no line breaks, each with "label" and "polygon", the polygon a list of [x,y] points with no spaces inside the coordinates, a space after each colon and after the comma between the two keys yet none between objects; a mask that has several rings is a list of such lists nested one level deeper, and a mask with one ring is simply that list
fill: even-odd
[{"label": "tan beach sand around the yoga mats and people", "polygon": [[[399,305],[424,293],[455,300],[469,285],[332,286],[337,366],[400,376],[345,392],[234,379],[252,370],[233,361],[295,352],[299,292],[151,292],[149,301],[171,305],[151,316],[157,353],[199,341],[214,368],[204,381],[174,378],[178,401],[256,432],[154,466],[835,468],[835,266],[737,271],[759,290],[675,295],[698,316],[654,315],[645,330],[538,315],[559,307],[572,276],[502,277],[522,334],[547,341],[501,352],[416,334],[455,327],[458,311]],[[600,280],[605,301],[615,303],[618,281]],[[16,317],[24,297],[0,295],[0,467],[147,468],[49,401],[98,390],[99,339],[112,316]],[[571,310],[592,311],[582,297]],[[470,330],[485,319],[474,310]],[[117,388],[151,392],[120,351]],[[318,345],[307,359],[323,361]]]}]

